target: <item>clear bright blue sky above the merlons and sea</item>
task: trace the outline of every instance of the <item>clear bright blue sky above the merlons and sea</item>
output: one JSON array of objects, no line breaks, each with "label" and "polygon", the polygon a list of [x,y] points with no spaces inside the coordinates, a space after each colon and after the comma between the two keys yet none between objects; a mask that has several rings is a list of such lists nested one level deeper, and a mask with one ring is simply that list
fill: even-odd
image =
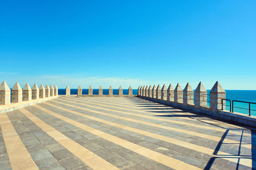
[{"label": "clear bright blue sky above the merlons and sea", "polygon": [[0,1],[0,81],[256,89],[256,1]]}]

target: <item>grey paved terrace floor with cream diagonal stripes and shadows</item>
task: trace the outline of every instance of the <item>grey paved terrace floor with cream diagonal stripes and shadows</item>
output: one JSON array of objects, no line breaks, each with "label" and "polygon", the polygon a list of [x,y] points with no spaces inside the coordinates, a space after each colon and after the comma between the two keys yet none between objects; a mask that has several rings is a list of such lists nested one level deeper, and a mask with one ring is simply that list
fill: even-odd
[{"label": "grey paved terrace floor with cream diagonal stripes and shadows", "polygon": [[138,97],[59,97],[0,127],[0,169],[256,168],[256,131]]}]

